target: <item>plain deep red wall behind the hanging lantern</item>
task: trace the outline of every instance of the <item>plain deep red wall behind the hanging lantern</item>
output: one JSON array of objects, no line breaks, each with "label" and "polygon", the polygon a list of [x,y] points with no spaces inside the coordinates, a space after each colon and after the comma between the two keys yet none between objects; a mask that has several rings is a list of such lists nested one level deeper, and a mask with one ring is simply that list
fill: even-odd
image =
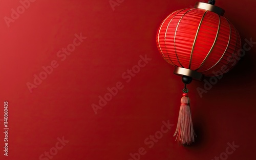
[{"label": "plain deep red wall behind the hanging lantern", "polygon": [[[204,82],[188,86],[198,138],[184,147],[173,137],[181,77],[162,59],[155,36],[169,13],[196,1],[119,2],[113,11],[109,0],[35,1],[9,27],[4,17],[11,18],[11,9],[21,4],[0,2],[2,149],[4,101],[9,102],[9,152],[6,157],[1,151],[0,159],[48,159],[45,151],[53,153],[63,136],[69,142],[52,159],[131,159],[130,153],[141,147],[145,154],[140,159],[214,159],[225,157],[227,143],[239,146],[228,159],[254,159],[256,46],[202,98],[197,87]],[[219,0],[216,5],[226,10],[243,44],[245,39],[256,41],[255,1]],[[80,33],[87,38],[61,61],[57,52]],[[140,55],[152,60],[131,79],[123,78]],[[31,93],[27,83],[54,60],[58,67]],[[98,105],[99,96],[118,82],[123,88],[95,114],[92,104]],[[154,146],[153,141],[144,143],[161,130],[162,121],[174,126]]]}]

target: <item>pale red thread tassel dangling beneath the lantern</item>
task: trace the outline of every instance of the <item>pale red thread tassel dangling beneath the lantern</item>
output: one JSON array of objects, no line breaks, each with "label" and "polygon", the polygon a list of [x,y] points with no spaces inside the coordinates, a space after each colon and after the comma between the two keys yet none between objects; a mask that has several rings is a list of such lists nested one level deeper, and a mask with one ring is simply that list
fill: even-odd
[{"label": "pale red thread tassel dangling beneath the lantern", "polygon": [[195,142],[196,134],[193,128],[187,93],[183,93],[183,97],[181,98],[178,124],[174,136],[176,135],[176,140],[182,145],[189,145]]}]

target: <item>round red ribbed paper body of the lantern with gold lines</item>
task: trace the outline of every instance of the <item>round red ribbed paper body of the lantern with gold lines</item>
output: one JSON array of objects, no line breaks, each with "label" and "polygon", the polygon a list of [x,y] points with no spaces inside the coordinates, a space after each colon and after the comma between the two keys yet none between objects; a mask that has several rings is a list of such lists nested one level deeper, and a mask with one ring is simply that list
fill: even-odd
[{"label": "round red ribbed paper body of the lantern with gold lines", "polygon": [[223,16],[194,8],[175,11],[163,20],[157,46],[169,64],[217,76],[237,63],[241,39]]}]

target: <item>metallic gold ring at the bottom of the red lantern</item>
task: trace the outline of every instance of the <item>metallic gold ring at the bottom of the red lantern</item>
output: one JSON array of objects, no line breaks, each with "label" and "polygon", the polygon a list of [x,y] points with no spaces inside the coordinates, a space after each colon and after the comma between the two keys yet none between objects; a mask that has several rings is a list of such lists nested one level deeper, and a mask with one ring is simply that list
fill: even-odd
[{"label": "metallic gold ring at the bottom of the red lantern", "polygon": [[204,77],[202,73],[199,73],[194,70],[186,69],[186,68],[180,68],[180,67],[175,68],[174,74],[181,75],[181,76],[182,75],[190,76],[193,79],[196,79],[198,81],[202,81]]}]

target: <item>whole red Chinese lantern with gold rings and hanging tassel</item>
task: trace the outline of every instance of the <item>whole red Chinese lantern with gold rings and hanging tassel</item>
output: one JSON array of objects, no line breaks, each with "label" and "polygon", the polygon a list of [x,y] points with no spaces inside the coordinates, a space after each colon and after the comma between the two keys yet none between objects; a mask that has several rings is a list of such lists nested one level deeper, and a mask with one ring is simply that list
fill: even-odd
[{"label": "whole red Chinese lantern with gold rings and hanging tassel", "polygon": [[174,136],[179,143],[195,141],[191,119],[188,89],[192,79],[202,81],[204,76],[218,76],[233,67],[239,57],[241,39],[238,31],[226,18],[224,10],[209,3],[198,2],[195,8],[181,9],[169,14],[157,32],[157,47],[174,73],[182,76],[185,84]]}]

